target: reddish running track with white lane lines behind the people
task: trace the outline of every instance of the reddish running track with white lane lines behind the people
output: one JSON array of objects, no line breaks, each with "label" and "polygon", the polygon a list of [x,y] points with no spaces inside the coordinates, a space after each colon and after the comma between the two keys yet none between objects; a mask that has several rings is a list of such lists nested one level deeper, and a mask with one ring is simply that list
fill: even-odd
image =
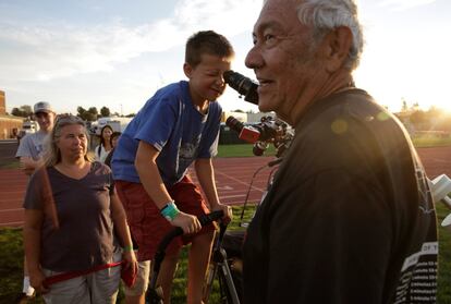
[{"label": "reddish running track with white lane lines behind the people", "polygon": [[[419,148],[419,157],[430,179],[451,177],[451,147]],[[255,171],[272,160],[270,157],[215,159],[217,187],[222,203],[243,204]],[[266,189],[270,169],[263,169],[254,179],[249,202],[257,202]],[[195,174],[192,174],[195,180]],[[0,170],[0,227],[23,224],[22,199],[26,178],[16,169]]]}]

